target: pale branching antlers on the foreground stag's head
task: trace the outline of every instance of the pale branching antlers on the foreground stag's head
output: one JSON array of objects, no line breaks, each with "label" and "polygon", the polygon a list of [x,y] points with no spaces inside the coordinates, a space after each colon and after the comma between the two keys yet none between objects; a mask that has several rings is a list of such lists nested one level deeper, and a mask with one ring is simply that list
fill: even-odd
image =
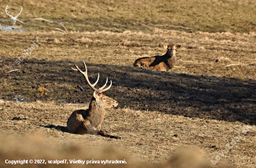
[{"label": "pale branching antlers on the foreground stag's head", "polygon": [[[83,61],[83,62],[84,62],[84,61]],[[74,68],[72,68],[72,67],[71,67],[71,69],[73,69],[74,71],[79,71],[81,74],[83,74],[84,77],[85,77],[85,79],[86,79],[86,81],[88,82],[89,86],[90,86],[93,90],[95,90],[96,92],[102,93],[102,92],[105,92],[106,90],[108,90],[108,89],[111,87],[112,81],[110,80],[110,85],[109,85],[109,87],[105,88],[106,85],[107,85],[107,83],[108,83],[108,78],[107,78],[107,81],[106,81],[105,85],[104,85],[103,87],[99,88],[99,89],[96,89],[94,86],[95,86],[95,85],[97,84],[97,82],[99,81],[100,74],[98,73],[98,79],[97,79],[97,81],[92,85],[92,84],[90,83],[89,79],[88,79],[88,76],[87,76],[87,67],[86,67],[86,65],[85,65],[85,62],[84,62],[85,72],[81,71],[81,70],[79,69],[79,67],[77,67],[77,65],[74,64],[74,66],[76,67],[76,69],[74,69]],[[105,89],[104,89],[104,88],[105,88]]]}]

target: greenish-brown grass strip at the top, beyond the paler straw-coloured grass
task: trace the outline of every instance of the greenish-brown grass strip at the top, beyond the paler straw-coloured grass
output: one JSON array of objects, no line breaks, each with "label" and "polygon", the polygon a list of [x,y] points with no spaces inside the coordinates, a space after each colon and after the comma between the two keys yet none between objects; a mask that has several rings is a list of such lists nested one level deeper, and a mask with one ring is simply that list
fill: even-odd
[{"label": "greenish-brown grass strip at the top, beyond the paler straw-coloured grass", "polygon": [[[255,0],[1,0],[0,12],[5,13],[9,5],[10,13],[23,11],[21,21],[44,18],[61,23],[68,31],[105,30],[123,32],[125,30],[152,30],[149,27],[183,30],[187,32],[232,32],[256,31]],[[14,14],[15,15],[15,14]],[[9,25],[8,16],[1,16],[2,25]],[[26,22],[41,26],[58,27],[41,20]],[[16,25],[22,25],[16,23]],[[162,27],[155,25],[173,25]],[[24,29],[49,31],[43,27],[22,25]],[[184,29],[180,27],[189,27]]]}]

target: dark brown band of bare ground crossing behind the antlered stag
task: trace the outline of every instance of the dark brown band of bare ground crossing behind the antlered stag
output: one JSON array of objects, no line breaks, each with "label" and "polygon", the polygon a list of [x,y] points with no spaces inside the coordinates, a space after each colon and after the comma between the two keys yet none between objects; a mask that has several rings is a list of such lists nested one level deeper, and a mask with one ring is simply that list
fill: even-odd
[{"label": "dark brown band of bare ground crossing behind the antlered stag", "polygon": [[[1,59],[2,66],[14,62],[13,58]],[[84,71],[82,62],[76,64]],[[0,99],[89,103],[93,91],[84,76],[70,67],[74,62],[26,60],[20,64],[20,71],[5,74],[0,70]],[[104,94],[118,101],[119,108],[256,124],[255,80],[92,63],[87,63],[87,68],[91,83],[100,73],[96,87],[104,85],[107,77],[112,80],[111,89]],[[47,89],[46,93],[39,91],[41,86]]]}]

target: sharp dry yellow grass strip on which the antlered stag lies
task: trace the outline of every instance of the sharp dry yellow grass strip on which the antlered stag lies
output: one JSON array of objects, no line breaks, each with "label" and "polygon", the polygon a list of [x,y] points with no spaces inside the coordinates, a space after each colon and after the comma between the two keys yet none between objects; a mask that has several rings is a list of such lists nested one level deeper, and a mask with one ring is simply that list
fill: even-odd
[{"label": "sharp dry yellow grass strip on which the antlered stag lies", "polygon": [[[111,109],[103,122],[104,129],[121,140],[104,138],[99,135],[77,135],[65,131],[69,115],[78,107],[57,106],[52,103],[16,103],[0,101],[0,129],[4,134],[29,136],[41,134],[43,141],[67,146],[79,141],[85,146],[111,146],[121,148],[140,161],[163,163],[181,148],[190,147],[190,152],[200,151],[206,156],[208,166],[226,144],[244,129],[241,122],[225,122],[191,119],[183,116],[158,112]],[[27,120],[11,120],[13,117]],[[231,151],[221,156],[217,165],[229,163],[236,167],[250,168],[255,164],[255,126],[238,141]],[[61,131],[62,130],[62,131]],[[215,146],[215,147],[214,147]],[[50,157],[49,157],[50,158]],[[39,158],[38,158],[39,159]],[[67,158],[69,159],[69,158]],[[72,159],[72,158],[70,158]]]}]

